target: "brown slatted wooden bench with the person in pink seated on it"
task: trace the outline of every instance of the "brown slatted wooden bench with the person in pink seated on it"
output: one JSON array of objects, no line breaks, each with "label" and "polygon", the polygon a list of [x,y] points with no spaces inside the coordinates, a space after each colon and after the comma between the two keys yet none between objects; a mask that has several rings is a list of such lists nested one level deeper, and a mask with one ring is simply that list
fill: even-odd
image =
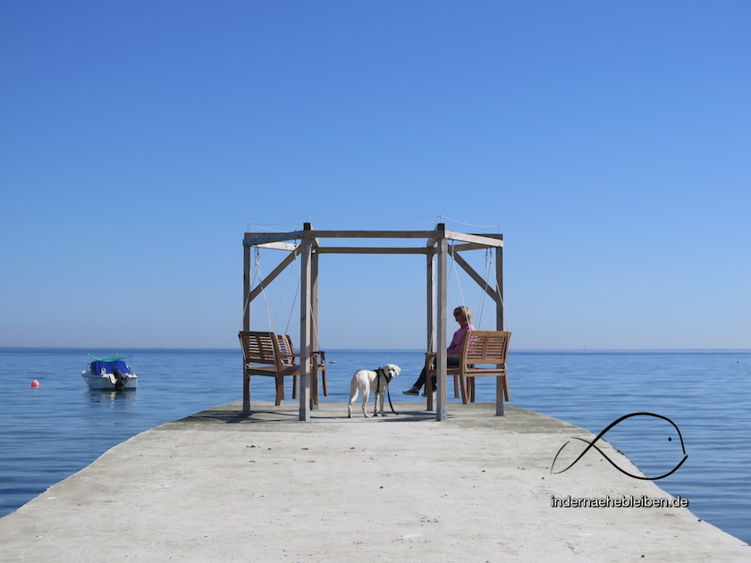
[{"label": "brown slatted wooden bench with the person in pink seated on it", "polygon": [[[509,351],[511,332],[506,331],[468,331],[461,345],[459,366],[447,366],[446,374],[454,376],[454,397],[459,396],[461,402],[475,402],[475,378],[492,376],[499,378],[502,386],[502,399],[511,399],[509,383],[506,379],[506,356]],[[433,392],[433,378],[435,377],[435,352],[426,353],[426,391]]]}]

